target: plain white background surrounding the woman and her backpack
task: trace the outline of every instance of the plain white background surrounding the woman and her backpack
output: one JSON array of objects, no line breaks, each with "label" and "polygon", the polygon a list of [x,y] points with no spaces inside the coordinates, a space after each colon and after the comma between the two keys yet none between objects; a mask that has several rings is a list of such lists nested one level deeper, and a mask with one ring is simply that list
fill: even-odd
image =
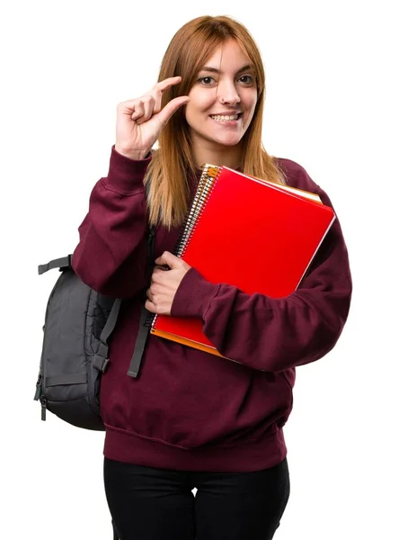
[{"label": "plain white background surrounding the woman and her backpack", "polygon": [[201,14],[229,14],[253,33],[267,73],[264,144],[329,193],[350,252],[346,328],[332,353],[297,370],[286,428],[292,491],[275,537],[399,538],[394,5],[15,0],[2,8],[1,538],[111,539],[103,435],[51,414],[41,422],[32,401],[57,278],[39,277],[37,265],[74,249],[89,193],[107,173],[117,103],[155,83],[173,33]]}]

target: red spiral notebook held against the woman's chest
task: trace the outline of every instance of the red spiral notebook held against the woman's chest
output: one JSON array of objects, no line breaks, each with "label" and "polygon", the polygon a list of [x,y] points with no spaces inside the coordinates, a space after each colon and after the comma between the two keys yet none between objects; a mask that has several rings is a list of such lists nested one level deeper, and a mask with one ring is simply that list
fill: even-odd
[{"label": "red spiral notebook held against the woman's chest", "polygon": [[[211,283],[293,293],[335,219],[318,195],[205,165],[177,248]],[[151,333],[221,356],[194,318],[156,315]]]}]

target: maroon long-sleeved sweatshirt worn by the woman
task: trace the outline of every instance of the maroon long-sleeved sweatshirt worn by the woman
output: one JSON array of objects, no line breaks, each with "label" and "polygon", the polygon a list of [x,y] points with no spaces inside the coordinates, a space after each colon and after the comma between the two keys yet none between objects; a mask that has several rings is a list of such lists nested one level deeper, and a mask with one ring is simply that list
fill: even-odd
[{"label": "maroon long-sleeved sweatshirt worn by the woman", "polygon": [[[147,287],[143,178],[149,161],[112,148],[109,174],[93,188],[73,257],[85,284],[123,299],[102,375],[104,455],[192,471],[249,472],[279,464],[287,453],[282,428],[292,409],[295,368],[331,351],[348,316],[350,266],[340,223],[334,221],[306,279],[284,298],[211,284],[191,268],[172,315],[201,318],[217,350],[239,364],[150,335],[134,379],[127,372]],[[288,184],[331,205],[302,166],[279,163]],[[155,257],[173,252],[179,232],[157,229]]]}]

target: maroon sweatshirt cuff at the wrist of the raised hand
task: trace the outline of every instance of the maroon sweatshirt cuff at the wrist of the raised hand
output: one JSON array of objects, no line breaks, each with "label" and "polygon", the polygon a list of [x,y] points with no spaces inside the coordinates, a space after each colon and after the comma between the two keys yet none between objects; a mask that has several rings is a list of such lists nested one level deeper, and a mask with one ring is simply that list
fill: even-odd
[{"label": "maroon sweatshirt cuff at the wrist of the raised hand", "polygon": [[140,160],[129,159],[118,153],[115,146],[112,146],[110,170],[107,177],[103,179],[103,184],[123,195],[141,191],[150,162],[151,154]]}]

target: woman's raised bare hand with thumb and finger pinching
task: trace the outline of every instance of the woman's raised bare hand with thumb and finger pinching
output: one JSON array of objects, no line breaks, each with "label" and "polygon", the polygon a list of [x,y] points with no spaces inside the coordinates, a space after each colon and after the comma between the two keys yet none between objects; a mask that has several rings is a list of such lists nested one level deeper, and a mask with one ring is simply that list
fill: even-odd
[{"label": "woman's raised bare hand with thumb and finger pinching", "polygon": [[130,159],[146,157],[173,113],[190,101],[188,95],[180,95],[161,109],[164,91],[178,85],[181,80],[181,76],[169,77],[157,83],[147,94],[118,105],[115,143],[117,152]]}]

